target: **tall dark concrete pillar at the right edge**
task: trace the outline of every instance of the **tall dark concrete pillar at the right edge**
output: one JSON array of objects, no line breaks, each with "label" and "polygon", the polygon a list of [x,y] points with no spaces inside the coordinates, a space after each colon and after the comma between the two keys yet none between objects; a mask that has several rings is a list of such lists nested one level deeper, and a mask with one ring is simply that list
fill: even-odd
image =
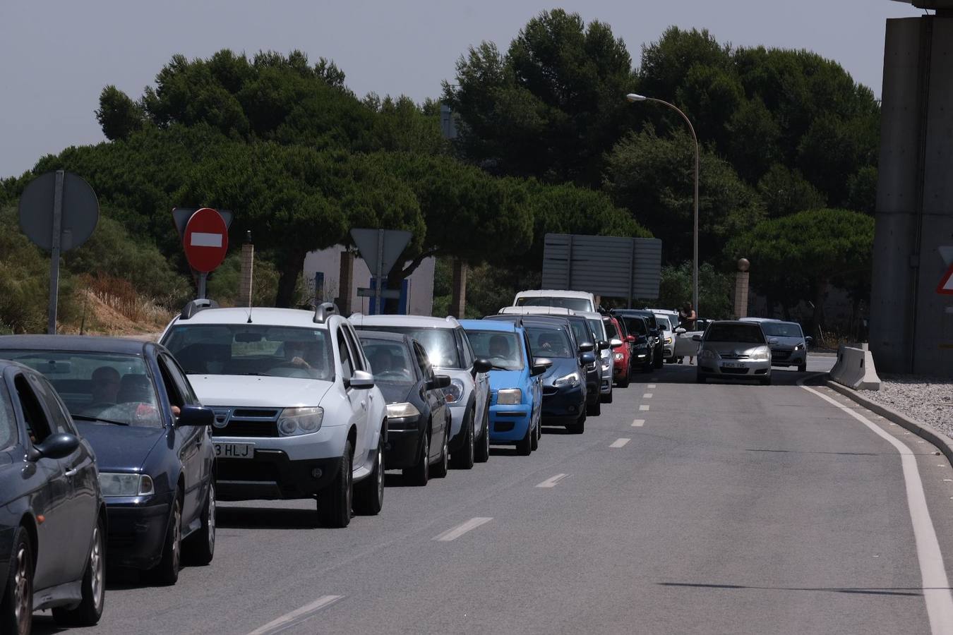
[{"label": "tall dark concrete pillar at the right edge", "polygon": [[953,17],[887,20],[870,349],[886,372],[953,375]]}]

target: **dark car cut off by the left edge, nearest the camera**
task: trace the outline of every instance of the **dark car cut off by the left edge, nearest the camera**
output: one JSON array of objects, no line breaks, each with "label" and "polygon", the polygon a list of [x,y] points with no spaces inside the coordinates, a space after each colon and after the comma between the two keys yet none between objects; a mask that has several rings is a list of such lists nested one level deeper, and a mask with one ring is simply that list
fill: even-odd
[{"label": "dark car cut off by the left edge, nearest the camera", "polygon": [[91,446],[44,377],[0,361],[0,633],[52,608],[94,625],[106,595],[106,505]]}]

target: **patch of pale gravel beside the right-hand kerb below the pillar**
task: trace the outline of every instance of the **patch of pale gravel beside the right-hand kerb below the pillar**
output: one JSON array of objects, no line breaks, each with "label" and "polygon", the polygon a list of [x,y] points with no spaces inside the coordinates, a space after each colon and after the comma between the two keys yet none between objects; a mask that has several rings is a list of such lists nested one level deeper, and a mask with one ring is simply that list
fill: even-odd
[{"label": "patch of pale gravel beside the right-hand kerb below the pillar", "polygon": [[953,379],[922,375],[881,375],[880,390],[869,397],[953,437]]}]

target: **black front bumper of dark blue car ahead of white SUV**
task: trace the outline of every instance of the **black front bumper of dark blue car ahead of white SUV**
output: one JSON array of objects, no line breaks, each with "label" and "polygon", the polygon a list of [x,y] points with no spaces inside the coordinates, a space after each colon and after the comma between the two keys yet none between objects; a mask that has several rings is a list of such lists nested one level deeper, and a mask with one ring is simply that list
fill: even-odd
[{"label": "black front bumper of dark blue car ahead of white SUV", "polygon": [[169,527],[169,501],[149,504],[112,503],[107,499],[109,519],[107,553],[111,566],[150,569],[162,559],[162,544]]}]

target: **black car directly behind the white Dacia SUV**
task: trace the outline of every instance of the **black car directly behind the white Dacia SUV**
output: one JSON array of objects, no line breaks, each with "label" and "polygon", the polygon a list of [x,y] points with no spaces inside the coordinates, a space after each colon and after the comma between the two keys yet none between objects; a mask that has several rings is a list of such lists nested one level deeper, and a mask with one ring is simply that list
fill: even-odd
[{"label": "black car directly behind the white Dacia SUV", "polygon": [[443,478],[450,460],[451,418],[443,389],[450,386],[450,377],[434,374],[427,352],[409,335],[359,332],[375,385],[387,402],[384,465],[402,469],[419,486],[432,475]]}]

